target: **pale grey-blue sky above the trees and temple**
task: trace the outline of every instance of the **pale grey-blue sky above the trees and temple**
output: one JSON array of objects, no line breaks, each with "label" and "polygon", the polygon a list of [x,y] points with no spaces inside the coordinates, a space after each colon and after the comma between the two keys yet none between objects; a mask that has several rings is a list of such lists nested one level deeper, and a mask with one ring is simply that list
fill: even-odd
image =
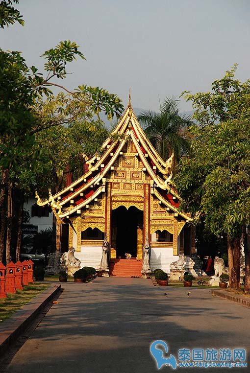
[{"label": "pale grey-blue sky above the trees and temple", "polygon": [[[75,41],[87,61],[64,84],[99,86],[127,104],[157,110],[159,98],[210,90],[234,63],[250,77],[249,0],[20,0],[19,24],[0,30],[0,47],[21,50],[29,65],[60,40]],[[181,111],[191,110],[180,102]]]}]

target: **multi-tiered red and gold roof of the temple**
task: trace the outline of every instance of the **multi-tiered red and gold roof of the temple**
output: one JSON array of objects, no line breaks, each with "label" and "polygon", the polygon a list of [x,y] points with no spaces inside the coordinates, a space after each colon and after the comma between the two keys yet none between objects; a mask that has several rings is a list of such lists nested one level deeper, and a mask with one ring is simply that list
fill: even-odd
[{"label": "multi-tiered red and gold roof of the temple", "polygon": [[137,151],[135,155],[143,163],[142,170],[148,172],[151,178],[151,193],[168,209],[191,220],[187,214],[177,210],[179,197],[171,183],[174,155],[167,162],[161,159],[140,126],[130,98],[122,119],[101,146],[102,155],[95,154],[86,161],[88,171],[68,187],[50,195],[47,201],[42,201],[37,195],[38,205],[50,204],[60,218],[80,213],[83,207],[88,207],[101,193],[105,193],[108,173],[114,169],[114,163],[123,154],[128,140],[133,142]]}]

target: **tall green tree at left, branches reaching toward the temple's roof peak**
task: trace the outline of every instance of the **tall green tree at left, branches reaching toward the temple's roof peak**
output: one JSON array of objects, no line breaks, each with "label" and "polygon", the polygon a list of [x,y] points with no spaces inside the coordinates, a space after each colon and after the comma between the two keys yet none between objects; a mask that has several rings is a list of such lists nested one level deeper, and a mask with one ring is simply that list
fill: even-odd
[{"label": "tall green tree at left, branches reaching toward the temple's roof peak", "polygon": [[[12,7],[13,2],[18,3],[0,3],[1,27],[15,21],[23,24],[19,11]],[[15,195],[22,201],[21,195],[37,183],[37,175],[45,173],[50,162],[44,149],[46,143],[43,146],[37,143],[37,134],[78,122],[83,113],[85,121],[86,118],[93,121],[93,116],[99,116],[100,111],[111,118],[123,110],[117,95],[102,88],[80,85],[75,91],[69,91],[57,83],[56,79],[65,78],[68,64],[76,57],[85,60],[75,42],[60,42],[45,51],[43,57],[46,75],[34,66],[29,68],[20,52],[0,49],[0,260],[5,255],[7,263],[12,236],[16,234],[12,231]],[[65,94],[54,97],[50,90],[53,86],[60,87]],[[50,101],[48,115],[43,113],[45,96]]]}]

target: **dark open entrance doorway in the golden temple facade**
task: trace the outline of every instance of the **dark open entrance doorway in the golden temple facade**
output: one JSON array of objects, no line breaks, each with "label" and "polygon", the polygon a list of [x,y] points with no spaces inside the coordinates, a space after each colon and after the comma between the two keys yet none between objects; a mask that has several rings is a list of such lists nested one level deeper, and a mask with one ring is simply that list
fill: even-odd
[{"label": "dark open entrance doorway in the golden temple facade", "polygon": [[128,210],[120,206],[112,210],[112,241],[116,246],[116,257],[124,258],[125,253],[137,257],[138,232],[143,227],[143,211],[131,206]]}]

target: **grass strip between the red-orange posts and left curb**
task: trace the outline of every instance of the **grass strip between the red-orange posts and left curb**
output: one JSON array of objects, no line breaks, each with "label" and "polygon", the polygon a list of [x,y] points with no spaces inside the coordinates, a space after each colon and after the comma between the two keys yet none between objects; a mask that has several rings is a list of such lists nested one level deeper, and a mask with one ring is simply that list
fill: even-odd
[{"label": "grass strip between the red-orange posts and left curb", "polygon": [[7,298],[0,298],[0,322],[8,319],[32,298],[42,293],[50,284],[31,284],[24,286],[24,290],[17,290],[16,294],[8,293]]}]

